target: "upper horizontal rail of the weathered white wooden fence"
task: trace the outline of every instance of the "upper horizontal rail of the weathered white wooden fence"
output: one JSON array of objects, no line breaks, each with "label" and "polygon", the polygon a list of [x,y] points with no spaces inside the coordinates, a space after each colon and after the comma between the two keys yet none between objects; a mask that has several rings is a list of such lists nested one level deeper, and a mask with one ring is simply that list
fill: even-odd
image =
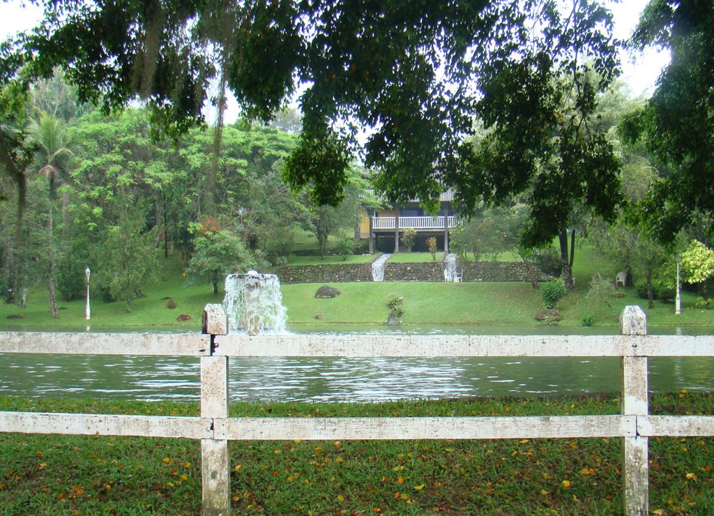
[{"label": "upper horizontal rail of the weathered white wooden fence", "polygon": [[[209,356],[210,335],[0,332],[0,353]],[[698,357],[710,335],[216,335],[230,357]]]}]

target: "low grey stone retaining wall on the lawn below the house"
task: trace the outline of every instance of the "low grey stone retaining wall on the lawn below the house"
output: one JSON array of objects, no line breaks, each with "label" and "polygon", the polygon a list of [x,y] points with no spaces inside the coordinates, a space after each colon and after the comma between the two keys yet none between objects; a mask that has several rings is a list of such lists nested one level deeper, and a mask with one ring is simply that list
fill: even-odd
[{"label": "low grey stone retaining wall on the lawn below the house", "polygon": [[[375,257],[376,258],[376,257]],[[464,281],[530,281],[521,262],[459,262]],[[463,273],[462,273],[463,270]],[[276,270],[281,283],[343,283],[371,281],[372,263],[329,263],[325,265],[283,265]],[[541,274],[540,280],[550,280]],[[385,281],[443,281],[443,263],[396,263],[387,261]]]}]

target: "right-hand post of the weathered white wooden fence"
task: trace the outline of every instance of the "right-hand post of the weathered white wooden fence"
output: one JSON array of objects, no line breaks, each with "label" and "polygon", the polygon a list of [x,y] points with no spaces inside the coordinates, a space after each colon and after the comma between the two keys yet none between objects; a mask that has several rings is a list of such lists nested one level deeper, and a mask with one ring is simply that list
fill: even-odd
[{"label": "right-hand post of the weathered white wooden fence", "polygon": [[[620,314],[621,335],[647,335],[647,316],[636,305],[625,306]],[[623,415],[648,415],[647,357],[620,358]],[[648,438],[624,437],[623,509],[625,515],[646,515],[649,507]]]}]

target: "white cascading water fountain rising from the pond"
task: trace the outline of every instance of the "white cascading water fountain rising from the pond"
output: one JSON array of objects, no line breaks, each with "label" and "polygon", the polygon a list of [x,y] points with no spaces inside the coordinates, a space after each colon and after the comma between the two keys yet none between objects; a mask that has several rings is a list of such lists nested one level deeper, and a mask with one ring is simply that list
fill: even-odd
[{"label": "white cascading water fountain rising from the pond", "polygon": [[284,333],[288,319],[275,274],[260,274],[248,270],[245,274],[226,276],[226,296],[223,308],[228,314],[228,331],[244,330],[258,335],[263,330]]}]

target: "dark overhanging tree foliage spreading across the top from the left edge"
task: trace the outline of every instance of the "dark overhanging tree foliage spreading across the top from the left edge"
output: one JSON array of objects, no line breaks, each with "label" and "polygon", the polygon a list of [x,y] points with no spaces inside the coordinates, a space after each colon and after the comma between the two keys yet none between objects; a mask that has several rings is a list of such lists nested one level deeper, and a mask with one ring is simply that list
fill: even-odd
[{"label": "dark overhanging tree foliage spreading across the top from the left edge", "polygon": [[[593,0],[573,2],[567,13],[555,0],[189,0],[180,7],[153,0],[93,9],[69,0],[47,4],[43,25],[6,47],[0,84],[19,76],[21,66],[23,81],[61,66],[81,101],[109,111],[141,97],[155,132],[174,137],[203,123],[213,78],[220,84],[213,99],[219,111],[223,92],[233,91],[246,118],[261,121],[304,84],[302,131],[286,177],[295,188],[310,188],[313,204],[341,201],[367,126],[364,163],[379,172],[376,186],[386,198],[420,198],[436,208],[446,182],[473,206],[486,189],[468,181],[472,160],[460,158],[468,154],[461,144],[473,132],[473,119],[508,126],[501,141],[513,144],[511,161],[499,171],[498,194],[521,191],[535,174],[530,153],[538,153],[560,113],[553,78],[570,74],[575,89],[566,91],[576,92],[577,111],[587,114],[593,88],[581,80],[582,62],[590,60],[600,74],[595,89],[607,86],[616,70],[610,28],[608,12]],[[494,95],[499,90],[503,94]],[[487,108],[494,100],[500,102],[493,111],[503,112],[498,120]],[[560,139],[569,143],[568,160],[593,170],[584,178],[586,201],[606,214],[603,199],[613,196],[605,149],[580,133],[578,120],[566,126]],[[569,179],[541,182],[546,191],[534,198],[535,215],[553,222],[543,206]],[[558,215],[568,206],[557,203]],[[562,217],[555,219],[560,231]]]}]

